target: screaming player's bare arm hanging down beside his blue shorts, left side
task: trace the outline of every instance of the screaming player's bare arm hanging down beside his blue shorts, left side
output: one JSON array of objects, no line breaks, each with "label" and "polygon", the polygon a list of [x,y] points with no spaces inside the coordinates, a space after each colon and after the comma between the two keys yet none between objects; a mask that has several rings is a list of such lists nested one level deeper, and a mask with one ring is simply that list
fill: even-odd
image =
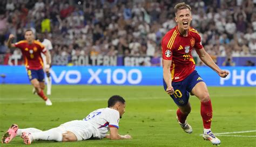
[{"label": "screaming player's bare arm hanging down beside his blue shorts, left side", "polygon": [[170,68],[172,65],[172,60],[165,60],[163,59],[163,76],[164,81],[167,85],[166,92],[170,95],[174,93],[173,87],[172,87],[172,76],[170,72]]}]

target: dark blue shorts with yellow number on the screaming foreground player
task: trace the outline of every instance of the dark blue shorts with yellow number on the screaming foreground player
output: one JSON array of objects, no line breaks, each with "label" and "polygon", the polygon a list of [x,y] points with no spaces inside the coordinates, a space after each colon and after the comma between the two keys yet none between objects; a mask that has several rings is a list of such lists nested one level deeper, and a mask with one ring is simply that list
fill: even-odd
[{"label": "dark blue shorts with yellow number on the screaming foreground player", "polygon": [[[173,101],[178,106],[185,106],[190,98],[190,92],[197,83],[203,81],[200,75],[194,70],[186,79],[179,82],[172,82],[172,87],[174,89],[174,94],[170,95]],[[163,79],[164,89],[166,90],[166,83]]]}]

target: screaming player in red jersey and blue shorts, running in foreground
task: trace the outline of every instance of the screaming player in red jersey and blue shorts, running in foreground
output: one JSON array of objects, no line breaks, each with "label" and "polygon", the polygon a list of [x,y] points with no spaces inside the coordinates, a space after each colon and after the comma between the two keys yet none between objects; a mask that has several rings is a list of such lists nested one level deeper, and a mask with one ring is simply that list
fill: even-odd
[{"label": "screaming player in red jersey and blue shorts, running in foreground", "polygon": [[195,70],[195,62],[191,55],[193,48],[201,61],[211,67],[221,78],[228,72],[221,70],[206,53],[201,45],[199,33],[190,27],[191,8],[185,3],[179,3],[174,8],[176,27],[165,34],[161,42],[163,57],[164,88],[178,106],[177,121],[181,128],[192,132],[192,127],[186,118],[191,111],[188,101],[190,93],[201,101],[201,117],[203,118],[203,138],[212,144],[220,144],[220,139],[211,131],[212,103],[205,82]]}]

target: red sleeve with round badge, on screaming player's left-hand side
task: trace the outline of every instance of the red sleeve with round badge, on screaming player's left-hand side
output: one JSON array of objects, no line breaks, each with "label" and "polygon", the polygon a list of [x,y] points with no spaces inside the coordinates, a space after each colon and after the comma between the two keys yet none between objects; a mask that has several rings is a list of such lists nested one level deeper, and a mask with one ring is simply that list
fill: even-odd
[{"label": "red sleeve with round badge, on screaming player's left-hand side", "polygon": [[172,60],[172,48],[170,48],[170,44],[172,43],[172,38],[167,38],[166,36],[163,38],[161,42],[162,49],[162,58],[165,60]]}]

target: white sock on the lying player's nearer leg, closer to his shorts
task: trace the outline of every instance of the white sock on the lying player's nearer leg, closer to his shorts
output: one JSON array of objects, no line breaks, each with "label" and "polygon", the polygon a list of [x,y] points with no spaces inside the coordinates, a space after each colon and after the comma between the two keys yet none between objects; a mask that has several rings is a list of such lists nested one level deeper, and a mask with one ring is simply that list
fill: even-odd
[{"label": "white sock on the lying player's nearer leg, closer to his shorts", "polygon": [[57,141],[62,142],[62,130],[58,128],[53,128],[47,131],[34,132],[31,133],[33,140],[43,140],[43,141]]}]

